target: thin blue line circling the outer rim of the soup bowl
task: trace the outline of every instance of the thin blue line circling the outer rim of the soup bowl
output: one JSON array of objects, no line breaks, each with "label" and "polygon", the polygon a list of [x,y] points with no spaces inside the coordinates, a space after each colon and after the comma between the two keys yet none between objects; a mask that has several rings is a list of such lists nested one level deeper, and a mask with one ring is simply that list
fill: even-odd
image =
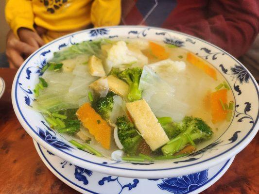
[{"label": "thin blue line circling the outer rim of the soup bowl", "polygon": [[[259,97],[259,86],[258,84],[255,82],[254,80],[254,77],[252,76],[252,74],[248,71],[248,69],[242,65],[242,63],[240,63],[235,57],[233,57],[231,54],[229,54],[228,52],[224,51],[223,49],[211,44],[211,43],[208,43],[207,41],[205,40],[202,40],[200,38],[197,38],[197,37],[194,37],[194,36],[191,36],[191,35],[188,35],[186,33],[182,33],[182,32],[176,32],[176,31],[173,31],[173,30],[167,30],[167,29],[163,29],[163,28],[156,28],[156,27],[143,27],[143,26],[115,26],[115,27],[102,27],[102,28],[105,28],[105,29],[113,29],[113,28],[139,28],[139,29],[146,29],[146,28],[150,28],[150,29],[157,29],[157,30],[163,30],[163,31],[166,31],[166,32],[173,32],[173,33],[178,33],[178,34],[182,34],[182,35],[185,35],[185,36],[188,36],[190,38],[193,38],[193,39],[196,39],[196,40],[199,40],[199,41],[202,41],[216,49],[219,49],[221,50],[222,52],[224,52],[226,55],[228,55],[229,57],[231,57],[235,62],[237,62],[239,65],[241,65],[244,69],[246,69],[246,71],[249,73],[249,76],[251,78],[251,80],[253,81],[253,84],[257,90],[257,95]],[[95,29],[102,29],[102,28],[95,28]],[[75,35],[75,34],[79,34],[79,33],[85,33],[85,32],[88,32],[88,31],[91,31],[93,29],[87,29],[87,30],[83,30],[83,31],[79,31],[79,32],[74,32],[74,33],[71,33],[71,34],[68,34],[68,35],[65,35],[65,36],[62,36],[56,40],[53,40],[51,41],[50,43],[48,43],[47,45],[41,47],[39,50],[35,51],[35,53],[33,53],[27,60],[26,62],[19,68],[19,72],[18,72],[18,75],[17,75],[17,79],[16,79],[16,83],[15,83],[15,100],[16,100],[16,105],[17,105],[17,108],[18,108],[18,112],[20,113],[21,117],[23,118],[23,121],[27,124],[27,126],[32,129],[34,131],[34,133],[41,139],[41,137],[39,136],[39,134],[35,131],[35,129],[33,129],[33,127],[27,122],[27,120],[25,119],[24,115],[22,114],[21,110],[20,110],[20,107],[19,107],[19,104],[18,104],[18,99],[17,99],[17,84],[18,84],[18,79],[20,77],[20,74],[23,70],[23,68],[27,65],[27,63],[30,61],[30,59],[36,54],[38,53],[39,51],[41,51],[42,49],[45,49],[46,47],[48,47],[49,45],[51,45],[52,43],[54,42],[57,42],[59,40],[62,40],[64,38],[67,38],[69,36],[72,36],[72,35]],[[248,131],[248,133],[242,138],[242,140],[240,140],[236,145],[232,146],[231,148],[227,149],[226,151],[216,155],[216,156],[213,156],[211,158],[208,158],[206,160],[203,160],[203,161],[200,161],[200,162],[196,162],[196,163],[192,163],[192,164],[188,164],[188,165],[184,165],[184,166],[179,166],[179,167],[172,167],[172,168],[162,168],[162,169],[134,169],[134,168],[123,168],[123,167],[117,167],[117,166],[111,166],[109,164],[104,164],[104,163],[98,163],[98,162],[91,162],[91,161],[88,161],[86,159],[83,159],[83,158],[80,158],[80,157],[77,157],[77,156],[74,156],[68,152],[65,152],[64,150],[62,149],[59,149],[59,148],[56,148],[54,146],[52,146],[51,144],[48,144],[49,146],[52,146],[54,149],[57,149],[73,158],[76,158],[76,159],[79,159],[81,161],[84,161],[84,162],[89,162],[89,163],[92,163],[92,164],[97,164],[97,165],[101,165],[101,166],[104,166],[104,167],[109,167],[109,168],[116,168],[116,169],[123,169],[123,170],[132,170],[132,171],[160,171],[160,170],[173,170],[173,169],[179,169],[179,168],[185,168],[185,167],[189,167],[189,166],[193,166],[193,165],[197,165],[197,164],[200,164],[200,163],[203,163],[203,162],[207,162],[207,161],[210,161],[214,158],[217,158],[219,156],[222,156],[223,154],[229,152],[230,150],[232,150],[233,148],[235,148],[236,146],[240,145],[245,139],[246,137],[253,131],[253,129],[255,128],[255,126],[258,124],[258,119],[259,119],[259,110],[258,110],[258,113],[257,113],[257,118],[255,119],[255,122],[254,122],[254,125],[252,126],[252,128]],[[242,147],[244,148],[244,147]],[[241,150],[240,150],[241,151]],[[231,154],[230,154],[231,155]],[[232,156],[232,155],[231,155]]]}]

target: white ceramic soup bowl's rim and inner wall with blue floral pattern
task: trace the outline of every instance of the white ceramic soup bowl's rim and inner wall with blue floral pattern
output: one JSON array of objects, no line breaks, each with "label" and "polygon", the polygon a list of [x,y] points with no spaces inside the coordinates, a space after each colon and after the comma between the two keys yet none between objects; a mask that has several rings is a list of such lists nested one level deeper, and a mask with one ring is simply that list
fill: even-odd
[{"label": "white ceramic soup bowl's rim and inner wall with blue floral pattern", "polygon": [[[196,154],[177,160],[144,163],[96,157],[77,149],[50,129],[43,116],[30,106],[35,99],[32,89],[38,81],[40,70],[53,57],[53,52],[85,40],[120,37],[144,38],[174,44],[197,53],[210,62],[229,83],[235,98],[235,114],[228,128]],[[250,72],[238,60],[199,38],[153,27],[118,26],[89,29],[48,43],[28,57],[17,71],[13,82],[12,101],[19,122],[41,146],[83,168],[121,177],[166,178],[205,170],[240,152],[259,129],[259,87]]]}]

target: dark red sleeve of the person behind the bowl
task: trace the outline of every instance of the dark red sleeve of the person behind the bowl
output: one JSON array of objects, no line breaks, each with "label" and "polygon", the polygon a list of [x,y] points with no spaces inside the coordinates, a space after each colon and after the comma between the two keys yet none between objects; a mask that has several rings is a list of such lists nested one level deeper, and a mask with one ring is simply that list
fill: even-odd
[{"label": "dark red sleeve of the person behind the bowl", "polygon": [[[181,3],[176,9],[186,10],[183,7]],[[176,24],[170,22],[170,17],[176,18],[172,13],[163,27],[205,39],[235,57],[241,56],[249,49],[259,32],[259,0],[207,0],[206,8],[202,9],[207,13],[205,18],[194,15],[192,17],[197,18],[196,21],[192,19],[191,22]],[[189,9],[187,17],[191,15],[192,10]]]}]

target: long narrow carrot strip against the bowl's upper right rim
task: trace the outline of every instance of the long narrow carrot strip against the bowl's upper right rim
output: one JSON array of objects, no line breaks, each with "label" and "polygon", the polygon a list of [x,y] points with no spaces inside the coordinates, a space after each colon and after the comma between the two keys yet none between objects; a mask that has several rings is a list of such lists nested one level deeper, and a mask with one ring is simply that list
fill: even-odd
[{"label": "long narrow carrot strip against the bowl's upper right rim", "polygon": [[214,80],[217,80],[216,70],[210,67],[210,64],[199,56],[188,52],[187,53],[187,61],[192,65],[202,69],[207,75],[209,75]]}]

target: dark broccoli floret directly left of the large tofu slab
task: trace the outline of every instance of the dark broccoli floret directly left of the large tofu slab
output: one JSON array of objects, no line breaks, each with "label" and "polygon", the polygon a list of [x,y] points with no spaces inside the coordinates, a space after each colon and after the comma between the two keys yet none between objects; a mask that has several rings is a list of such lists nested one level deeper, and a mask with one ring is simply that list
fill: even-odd
[{"label": "dark broccoli floret directly left of the large tofu slab", "polygon": [[125,153],[136,155],[142,137],[138,134],[134,125],[125,117],[117,118],[118,137]]}]

